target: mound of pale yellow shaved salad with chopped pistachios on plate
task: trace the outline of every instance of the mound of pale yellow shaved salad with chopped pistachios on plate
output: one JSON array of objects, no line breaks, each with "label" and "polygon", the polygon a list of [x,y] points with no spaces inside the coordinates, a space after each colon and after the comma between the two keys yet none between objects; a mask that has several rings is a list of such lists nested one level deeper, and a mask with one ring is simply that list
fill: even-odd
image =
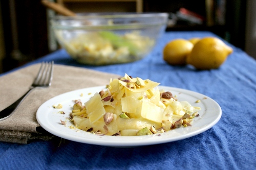
[{"label": "mound of pale yellow shaved salad with chopped pistachios on plate", "polygon": [[89,101],[76,101],[72,123],[81,130],[101,135],[136,136],[163,133],[191,126],[200,107],[177,101],[160,83],[127,74],[111,79],[106,90],[96,92]]}]

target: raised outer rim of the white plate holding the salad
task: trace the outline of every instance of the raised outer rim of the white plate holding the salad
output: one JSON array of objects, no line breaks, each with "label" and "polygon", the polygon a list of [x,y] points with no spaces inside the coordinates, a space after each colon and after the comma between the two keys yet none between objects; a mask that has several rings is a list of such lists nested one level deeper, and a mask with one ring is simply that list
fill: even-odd
[{"label": "raised outer rim of the white plate holding the salad", "polygon": [[[183,139],[186,139],[186,138],[189,138],[189,137],[196,136],[196,135],[198,135],[200,133],[203,133],[203,132],[207,131],[208,129],[212,128],[214,125],[216,125],[219,122],[219,120],[220,120],[220,118],[222,116],[222,109],[221,109],[220,105],[215,100],[211,99],[209,96],[206,96],[206,95],[204,95],[202,93],[199,93],[199,92],[196,92],[196,91],[191,91],[191,90],[177,88],[177,87],[161,86],[161,85],[159,85],[157,87],[159,89],[172,89],[172,90],[179,91],[181,93],[185,93],[186,95],[190,95],[190,96],[193,96],[193,97],[196,97],[194,95],[205,96],[211,103],[215,104],[215,106],[217,107],[215,109],[219,110],[219,112],[218,112],[217,115],[214,116],[214,119],[212,120],[211,123],[209,123],[208,125],[206,125],[203,128],[199,128],[197,130],[194,130],[193,132],[185,133],[185,134],[182,134],[181,136],[172,136],[170,138],[162,138],[162,139],[157,140],[157,141],[156,140],[144,140],[143,142],[141,140],[134,141],[134,142],[122,140],[120,142],[119,140],[107,140],[106,141],[106,140],[103,140],[103,139],[102,140],[97,140],[95,142],[95,139],[92,139],[92,138],[89,138],[89,139],[84,138],[83,140],[79,140],[79,138],[77,138],[77,136],[70,136],[69,134],[61,134],[60,132],[58,132],[59,131],[58,129],[56,129],[56,130],[50,129],[47,126],[49,124],[47,124],[44,121],[42,121],[43,120],[41,118],[42,112],[40,113],[40,111],[42,109],[51,109],[51,107],[45,106],[45,105],[47,105],[51,101],[54,101],[57,98],[60,98],[61,96],[72,94],[72,93],[75,93],[76,91],[90,90],[90,89],[103,89],[103,88],[105,88],[105,86],[94,86],[94,87],[87,87],[87,88],[81,88],[81,89],[72,90],[72,91],[68,91],[68,92],[65,92],[65,93],[62,93],[62,94],[54,96],[53,98],[47,100],[42,105],[40,105],[40,107],[36,111],[36,119],[37,119],[38,124],[43,129],[45,129],[46,131],[52,133],[55,136],[58,136],[58,137],[61,137],[61,138],[65,138],[65,139],[68,139],[68,140],[72,140],[72,141],[76,141],[76,142],[87,143],[87,144],[96,144],[96,145],[104,145],[104,146],[109,146],[109,147],[138,147],[138,146],[142,146],[142,145],[153,145],[153,144],[161,144],[161,143],[167,143],[167,142],[183,140]],[[192,93],[194,95],[191,95],[189,93]],[[47,111],[45,111],[45,112],[47,112]],[[205,114],[207,114],[207,111],[206,111]],[[54,126],[54,125],[52,125],[52,126]],[[178,128],[178,129],[180,129],[180,128]],[[175,131],[175,130],[172,130],[172,131]],[[90,135],[93,135],[93,134],[91,134],[89,132],[87,132],[87,133],[90,134]],[[165,133],[168,133],[168,132],[165,132]],[[146,135],[146,136],[155,137],[156,135],[157,134]],[[107,136],[107,135],[104,135],[104,136],[97,135],[97,136],[99,136],[99,138],[115,138],[115,137],[122,137],[122,138],[126,138],[126,139],[127,138],[128,139],[130,139],[130,138],[139,138],[138,136]]]}]

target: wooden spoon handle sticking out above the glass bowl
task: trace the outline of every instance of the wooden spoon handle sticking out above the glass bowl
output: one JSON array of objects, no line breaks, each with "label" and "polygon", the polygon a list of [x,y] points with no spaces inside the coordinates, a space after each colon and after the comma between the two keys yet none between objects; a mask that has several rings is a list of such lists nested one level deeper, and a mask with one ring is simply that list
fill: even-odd
[{"label": "wooden spoon handle sticking out above the glass bowl", "polygon": [[59,13],[61,15],[65,15],[65,16],[75,16],[76,15],[74,12],[70,11],[69,9],[67,9],[57,3],[53,3],[53,2],[50,2],[47,0],[42,0],[41,3],[44,6],[56,11],[57,13]]}]

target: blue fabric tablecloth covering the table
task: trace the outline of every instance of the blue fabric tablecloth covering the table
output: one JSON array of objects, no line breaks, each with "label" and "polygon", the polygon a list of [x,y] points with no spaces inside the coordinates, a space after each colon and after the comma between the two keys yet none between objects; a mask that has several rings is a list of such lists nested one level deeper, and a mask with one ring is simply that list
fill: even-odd
[{"label": "blue fabric tablecloth covering the table", "polygon": [[0,142],[0,169],[255,169],[256,61],[226,41],[233,53],[219,69],[170,66],[162,59],[162,49],[168,41],[205,36],[216,35],[197,31],[167,32],[150,55],[133,63],[81,65],[59,50],[23,67],[54,60],[57,64],[119,75],[139,75],[164,86],[200,92],[222,108],[222,117],[214,127],[187,139],[135,148],[103,147],[69,140],[59,147],[53,141]]}]

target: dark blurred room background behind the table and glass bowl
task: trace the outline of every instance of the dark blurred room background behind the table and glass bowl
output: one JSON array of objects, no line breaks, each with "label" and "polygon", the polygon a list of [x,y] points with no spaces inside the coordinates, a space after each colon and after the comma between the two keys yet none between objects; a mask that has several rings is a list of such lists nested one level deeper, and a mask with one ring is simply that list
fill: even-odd
[{"label": "dark blurred room background behind the table and glass bowl", "polygon": [[[167,12],[166,31],[211,31],[256,59],[255,0],[50,0],[74,12]],[[0,0],[0,73],[59,49],[39,0]]]}]

